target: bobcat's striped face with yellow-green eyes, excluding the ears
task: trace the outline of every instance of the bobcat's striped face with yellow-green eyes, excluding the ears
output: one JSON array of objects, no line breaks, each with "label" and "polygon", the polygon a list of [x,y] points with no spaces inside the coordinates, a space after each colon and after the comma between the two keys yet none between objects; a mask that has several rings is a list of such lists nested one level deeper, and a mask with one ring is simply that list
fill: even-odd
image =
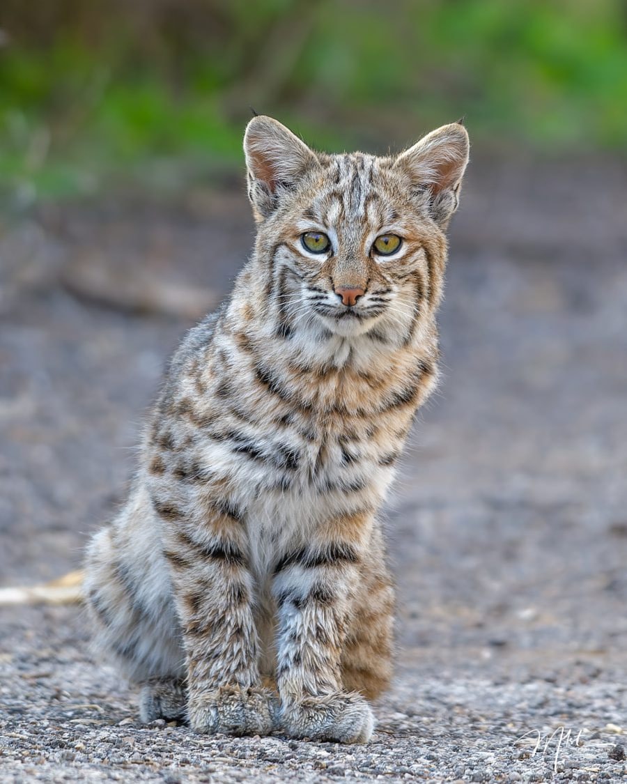
[{"label": "bobcat's striped face with yellow-green eyes, excluding the ears", "polygon": [[371,156],[328,158],[317,183],[299,188],[270,222],[285,238],[277,273],[294,278],[290,307],[303,320],[314,317],[348,336],[379,321],[406,322],[418,307],[415,284],[425,265],[419,221],[409,205],[399,205],[409,220],[393,207],[389,169]]}]

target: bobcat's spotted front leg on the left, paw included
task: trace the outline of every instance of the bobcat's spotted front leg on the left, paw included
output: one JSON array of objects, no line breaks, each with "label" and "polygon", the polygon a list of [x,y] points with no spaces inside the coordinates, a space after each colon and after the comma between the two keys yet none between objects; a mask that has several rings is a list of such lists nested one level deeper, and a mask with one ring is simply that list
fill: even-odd
[{"label": "bobcat's spotted front leg on the left, paw included", "polygon": [[[157,509],[168,516],[167,506]],[[170,517],[165,557],[187,655],[190,724],[199,732],[266,735],[273,728],[272,697],[259,679],[245,528],[218,509],[194,524],[172,510]]]}]

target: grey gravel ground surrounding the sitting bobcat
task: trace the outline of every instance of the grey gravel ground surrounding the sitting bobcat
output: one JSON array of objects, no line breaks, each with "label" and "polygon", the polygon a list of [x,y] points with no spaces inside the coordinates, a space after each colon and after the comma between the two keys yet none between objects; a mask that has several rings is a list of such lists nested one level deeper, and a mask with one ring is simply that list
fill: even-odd
[{"label": "grey gravel ground surrounding the sitting bobcat", "polygon": [[[142,727],[81,608],[0,608],[0,781],[625,779],[625,186],[619,161],[473,164],[444,379],[387,510],[398,671],[371,743]],[[139,270],[211,301],[251,241],[237,190],[49,207],[4,227],[0,584],[80,565],[197,307],[91,296],[89,280],[114,291]]]}]

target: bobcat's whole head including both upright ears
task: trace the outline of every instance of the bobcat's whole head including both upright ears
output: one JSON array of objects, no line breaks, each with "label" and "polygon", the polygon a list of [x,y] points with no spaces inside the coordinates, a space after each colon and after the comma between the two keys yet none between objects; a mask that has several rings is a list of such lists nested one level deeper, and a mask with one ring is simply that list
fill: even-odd
[{"label": "bobcat's whole head including both upright ears", "polygon": [[411,330],[437,305],[429,262],[457,206],[468,159],[461,125],[447,125],[393,158],[316,154],[270,118],[245,136],[259,258],[291,328],[342,336]]}]

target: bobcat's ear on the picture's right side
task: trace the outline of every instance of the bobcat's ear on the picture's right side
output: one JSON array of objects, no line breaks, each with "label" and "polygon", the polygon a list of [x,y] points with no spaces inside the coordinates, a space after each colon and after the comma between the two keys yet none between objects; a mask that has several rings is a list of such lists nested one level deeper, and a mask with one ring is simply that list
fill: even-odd
[{"label": "bobcat's ear on the picture's right side", "polygon": [[417,190],[429,192],[431,215],[443,228],[457,209],[469,148],[468,132],[452,122],[401,153],[395,164],[409,172]]}]

